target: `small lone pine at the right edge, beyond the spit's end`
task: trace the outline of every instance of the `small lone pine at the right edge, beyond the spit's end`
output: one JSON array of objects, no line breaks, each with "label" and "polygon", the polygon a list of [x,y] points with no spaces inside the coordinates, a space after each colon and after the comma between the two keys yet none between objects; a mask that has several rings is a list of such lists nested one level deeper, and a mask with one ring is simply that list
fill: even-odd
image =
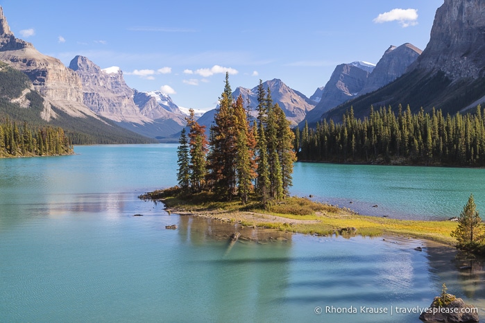
[{"label": "small lone pine at the right edge, beyond the spit's end", "polygon": [[473,194],[468,198],[468,202],[461,211],[458,226],[451,233],[451,236],[457,238],[457,247],[463,250],[474,251],[485,241],[485,229],[482,225]]}]

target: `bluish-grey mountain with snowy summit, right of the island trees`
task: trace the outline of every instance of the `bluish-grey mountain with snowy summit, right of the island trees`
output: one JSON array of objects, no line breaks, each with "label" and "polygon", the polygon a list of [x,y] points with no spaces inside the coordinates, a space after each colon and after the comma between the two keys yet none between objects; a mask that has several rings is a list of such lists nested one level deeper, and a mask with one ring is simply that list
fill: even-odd
[{"label": "bluish-grey mountain with snowy summit, right of the island trees", "polygon": [[[354,62],[335,67],[330,80],[325,84],[321,100],[314,110],[308,112],[305,121],[314,124],[320,120],[323,113],[357,96],[359,91],[364,88],[369,73],[371,73],[368,68],[362,69],[362,65]],[[305,121],[300,123],[300,127],[304,125]]]}]

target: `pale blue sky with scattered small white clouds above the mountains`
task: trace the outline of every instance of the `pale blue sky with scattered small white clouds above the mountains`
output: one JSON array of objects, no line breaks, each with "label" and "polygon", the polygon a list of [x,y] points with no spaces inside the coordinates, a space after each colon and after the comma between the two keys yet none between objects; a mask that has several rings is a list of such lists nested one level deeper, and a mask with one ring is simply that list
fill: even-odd
[{"label": "pale blue sky with scattered small white clouds above the mountains", "polygon": [[139,91],[208,110],[223,91],[280,78],[311,96],[337,64],[377,63],[389,46],[425,49],[443,0],[0,0],[16,37],[69,66],[117,66]]}]

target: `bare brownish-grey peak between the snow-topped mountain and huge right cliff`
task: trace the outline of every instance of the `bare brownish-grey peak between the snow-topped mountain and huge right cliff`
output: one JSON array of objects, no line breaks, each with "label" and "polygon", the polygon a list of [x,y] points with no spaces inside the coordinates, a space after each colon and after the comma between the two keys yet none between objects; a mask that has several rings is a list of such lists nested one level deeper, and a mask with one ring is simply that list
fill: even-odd
[{"label": "bare brownish-grey peak between the snow-topped mountain and huge right cliff", "polygon": [[423,51],[409,43],[402,44],[399,47],[389,47],[368,76],[364,88],[359,91],[359,96],[380,89],[380,87],[402,76],[407,67],[416,61],[421,53]]}]

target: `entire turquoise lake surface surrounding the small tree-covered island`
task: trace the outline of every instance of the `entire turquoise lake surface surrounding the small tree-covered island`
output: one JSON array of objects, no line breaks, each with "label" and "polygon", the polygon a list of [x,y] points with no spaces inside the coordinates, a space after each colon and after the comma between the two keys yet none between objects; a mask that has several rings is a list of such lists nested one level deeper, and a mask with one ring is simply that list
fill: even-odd
[{"label": "entire turquoise lake surface surrounding the small tree-covered island", "polygon": [[[420,322],[395,307],[429,306],[443,283],[484,315],[482,262],[463,272],[468,263],[452,250],[426,245],[417,252],[423,241],[409,238],[296,234],[231,245],[227,225],[169,215],[162,204],[137,199],[176,183],[176,146],[75,150],[79,155],[0,159],[0,322]],[[440,217],[462,208],[468,187],[476,185],[481,203],[481,175],[296,164],[292,193]],[[438,189],[445,182],[454,184]],[[395,204],[408,196],[423,202]],[[444,207],[427,213],[425,204]],[[164,229],[171,224],[178,229]],[[327,306],[388,313],[326,313]]]}]

